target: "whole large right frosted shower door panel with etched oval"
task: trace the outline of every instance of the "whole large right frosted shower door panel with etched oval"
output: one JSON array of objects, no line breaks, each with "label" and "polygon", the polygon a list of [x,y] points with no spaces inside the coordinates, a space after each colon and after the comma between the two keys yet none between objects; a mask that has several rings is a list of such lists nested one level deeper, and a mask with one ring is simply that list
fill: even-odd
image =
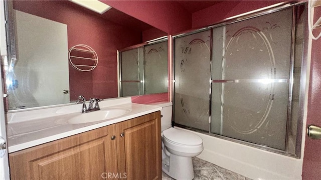
[{"label": "whole large right frosted shower door panel with etched oval", "polygon": [[212,133],[285,150],[291,33],[292,9],[213,29]]}]

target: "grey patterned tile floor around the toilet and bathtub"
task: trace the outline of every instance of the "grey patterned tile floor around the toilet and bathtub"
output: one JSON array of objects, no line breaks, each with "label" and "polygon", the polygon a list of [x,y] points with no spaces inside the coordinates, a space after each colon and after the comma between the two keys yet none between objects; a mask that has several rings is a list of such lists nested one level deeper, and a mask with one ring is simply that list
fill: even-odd
[{"label": "grey patterned tile floor around the toilet and bathtub", "polygon": [[[203,159],[193,157],[194,180],[251,180]],[[175,180],[163,172],[162,180]]]}]

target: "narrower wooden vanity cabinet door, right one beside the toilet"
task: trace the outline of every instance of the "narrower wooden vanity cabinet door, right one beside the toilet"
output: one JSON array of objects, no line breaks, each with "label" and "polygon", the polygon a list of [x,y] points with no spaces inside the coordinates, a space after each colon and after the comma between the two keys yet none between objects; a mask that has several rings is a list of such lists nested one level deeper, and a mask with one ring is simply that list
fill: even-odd
[{"label": "narrower wooden vanity cabinet door, right one beside the toilet", "polygon": [[161,113],[120,122],[116,131],[118,172],[132,180],[162,179]]}]

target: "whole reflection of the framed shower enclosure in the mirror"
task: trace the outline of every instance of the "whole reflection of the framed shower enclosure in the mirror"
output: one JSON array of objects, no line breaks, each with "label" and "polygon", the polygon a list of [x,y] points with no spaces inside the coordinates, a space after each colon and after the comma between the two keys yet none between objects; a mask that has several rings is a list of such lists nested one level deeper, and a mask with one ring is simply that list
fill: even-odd
[{"label": "whole reflection of the framed shower enclosure in the mirror", "polygon": [[168,38],[118,52],[120,96],[168,92]]}]

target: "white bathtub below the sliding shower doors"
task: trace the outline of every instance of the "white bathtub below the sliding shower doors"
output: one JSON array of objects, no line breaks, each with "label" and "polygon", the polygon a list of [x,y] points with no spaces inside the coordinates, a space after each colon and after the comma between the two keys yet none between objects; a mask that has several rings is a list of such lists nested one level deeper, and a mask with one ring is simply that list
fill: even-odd
[{"label": "white bathtub below the sliding shower doors", "polygon": [[302,179],[305,133],[302,135],[301,158],[297,159],[180,127],[175,128],[202,137],[204,150],[197,157],[218,166],[252,179]]}]

